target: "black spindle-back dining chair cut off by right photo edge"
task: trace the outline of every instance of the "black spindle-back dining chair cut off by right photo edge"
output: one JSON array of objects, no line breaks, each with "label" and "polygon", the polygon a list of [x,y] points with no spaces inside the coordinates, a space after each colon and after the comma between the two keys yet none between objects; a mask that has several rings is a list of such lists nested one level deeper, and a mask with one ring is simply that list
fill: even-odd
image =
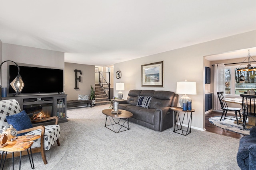
[{"label": "black spindle-back dining chair cut off by right photo edge", "polygon": [[242,97],[242,114],[243,130],[245,129],[246,120],[248,117],[256,117],[256,108],[254,106],[256,95],[240,94]]}]

